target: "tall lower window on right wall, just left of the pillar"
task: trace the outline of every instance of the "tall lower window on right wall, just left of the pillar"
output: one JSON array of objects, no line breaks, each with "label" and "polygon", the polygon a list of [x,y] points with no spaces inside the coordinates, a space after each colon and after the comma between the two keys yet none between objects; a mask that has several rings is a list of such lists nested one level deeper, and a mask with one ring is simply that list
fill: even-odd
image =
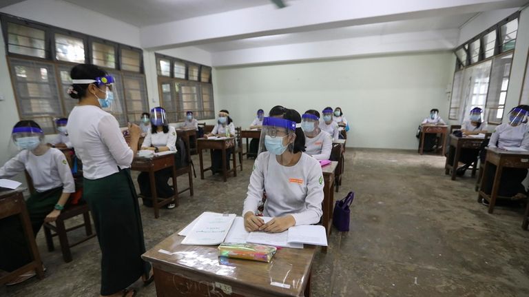
[{"label": "tall lower window on right wall, just left of the pillar", "polygon": [[511,64],[512,53],[495,57],[492,60],[486,105],[486,121],[489,123],[500,124],[504,117]]}]

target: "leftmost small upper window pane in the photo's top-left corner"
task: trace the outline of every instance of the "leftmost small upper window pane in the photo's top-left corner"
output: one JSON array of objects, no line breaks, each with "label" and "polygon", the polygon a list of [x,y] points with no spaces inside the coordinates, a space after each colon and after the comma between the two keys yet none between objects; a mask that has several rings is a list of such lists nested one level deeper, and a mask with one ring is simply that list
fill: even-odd
[{"label": "leftmost small upper window pane in the photo's top-left corner", "polygon": [[8,51],[45,58],[45,32],[17,23],[8,23]]}]

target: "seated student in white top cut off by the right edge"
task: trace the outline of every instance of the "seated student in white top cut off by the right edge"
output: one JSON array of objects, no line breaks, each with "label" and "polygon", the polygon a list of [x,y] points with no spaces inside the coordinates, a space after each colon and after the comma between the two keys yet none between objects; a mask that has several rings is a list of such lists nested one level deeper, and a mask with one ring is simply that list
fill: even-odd
[{"label": "seated student in white top cut off by the right edge", "polygon": [[[498,125],[492,135],[488,147],[522,147],[529,150],[529,126],[527,121],[529,112],[520,107],[515,107],[509,112],[508,123]],[[481,181],[482,189],[486,194],[492,192],[492,183],[496,173],[496,166],[487,165],[486,176]],[[527,170],[523,168],[504,167],[501,171],[498,196],[511,197],[512,200],[525,199],[526,187],[521,182],[526,178]],[[488,205],[488,201],[481,199],[481,203]]]}]

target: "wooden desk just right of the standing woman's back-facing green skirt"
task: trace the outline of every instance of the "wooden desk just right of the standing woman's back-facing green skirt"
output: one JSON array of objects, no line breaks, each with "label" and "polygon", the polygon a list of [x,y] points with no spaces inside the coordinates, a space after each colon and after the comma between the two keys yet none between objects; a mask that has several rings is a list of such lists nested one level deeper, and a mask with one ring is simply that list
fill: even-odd
[{"label": "wooden desk just right of the standing woman's back-facing green skirt", "polygon": [[[163,170],[165,168],[173,168],[173,187],[174,187],[174,198],[164,199],[164,201],[158,202],[158,196],[156,195],[156,181],[154,181],[154,172]],[[151,184],[152,194],[152,208],[154,209],[154,218],[160,216],[160,207],[169,203],[176,204],[178,206],[178,190],[176,185],[176,167],[174,166],[174,154],[165,154],[162,156],[154,156],[153,158],[136,157],[132,161],[130,167],[131,170],[139,172],[149,172],[149,183]]]}]

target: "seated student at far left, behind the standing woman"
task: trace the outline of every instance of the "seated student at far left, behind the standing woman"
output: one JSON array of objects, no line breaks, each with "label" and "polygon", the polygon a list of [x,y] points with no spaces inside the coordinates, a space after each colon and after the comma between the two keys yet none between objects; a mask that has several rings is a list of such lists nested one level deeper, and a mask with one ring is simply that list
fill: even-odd
[{"label": "seated student at far left, behind the standing woman", "polygon": [[[34,236],[44,222],[53,222],[75,192],[70,165],[60,150],[43,143],[44,133],[34,121],[19,121],[14,125],[12,141],[21,150],[0,167],[0,178],[11,178],[26,170],[35,192],[25,201]],[[0,220],[0,269],[12,272],[31,262],[30,252],[18,216]],[[27,272],[7,285],[21,283],[35,276]]]}]

